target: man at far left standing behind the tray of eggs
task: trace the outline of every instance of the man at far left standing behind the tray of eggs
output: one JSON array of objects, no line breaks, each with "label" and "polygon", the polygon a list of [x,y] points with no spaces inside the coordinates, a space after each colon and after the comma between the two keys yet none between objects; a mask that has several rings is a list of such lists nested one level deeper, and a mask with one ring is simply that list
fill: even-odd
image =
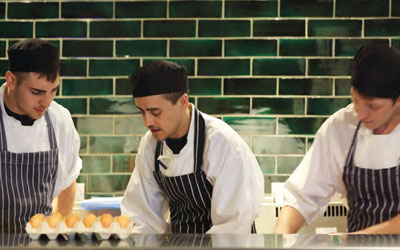
[{"label": "man at far left standing behind the tray of eggs", "polygon": [[[27,39],[8,50],[0,88],[0,230],[24,232],[36,213],[71,212],[81,169],[79,136],[67,109],[53,101],[58,47]],[[53,211],[54,212],[54,211]]]}]

